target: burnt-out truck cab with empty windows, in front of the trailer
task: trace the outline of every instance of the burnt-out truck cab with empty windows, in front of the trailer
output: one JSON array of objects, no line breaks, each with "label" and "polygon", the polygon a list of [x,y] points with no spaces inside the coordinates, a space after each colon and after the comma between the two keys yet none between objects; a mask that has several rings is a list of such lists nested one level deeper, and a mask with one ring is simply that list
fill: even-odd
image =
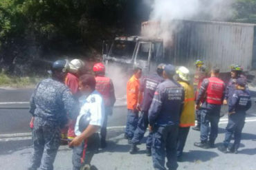
[{"label": "burnt-out truck cab with empty windows, in front of the trailer", "polygon": [[103,60],[107,67],[120,65],[127,73],[136,66],[141,67],[143,72],[154,72],[157,65],[164,61],[163,39],[158,38],[120,36],[105,51]]}]

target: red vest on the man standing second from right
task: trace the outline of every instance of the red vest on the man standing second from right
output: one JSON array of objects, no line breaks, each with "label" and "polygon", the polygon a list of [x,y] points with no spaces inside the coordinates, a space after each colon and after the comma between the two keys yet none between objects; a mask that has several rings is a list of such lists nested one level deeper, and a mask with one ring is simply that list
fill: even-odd
[{"label": "red vest on the man standing second from right", "polygon": [[209,84],[206,91],[206,102],[214,105],[222,105],[222,98],[225,89],[224,82],[217,77],[208,78]]}]

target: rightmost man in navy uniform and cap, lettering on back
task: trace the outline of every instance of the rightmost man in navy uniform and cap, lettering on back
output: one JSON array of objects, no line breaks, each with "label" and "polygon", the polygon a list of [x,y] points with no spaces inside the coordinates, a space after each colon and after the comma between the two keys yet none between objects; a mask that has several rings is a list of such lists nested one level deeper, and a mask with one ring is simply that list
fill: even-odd
[{"label": "rightmost man in navy uniform and cap, lettering on back", "polygon": [[230,152],[237,153],[241,141],[241,131],[246,119],[246,111],[250,109],[251,105],[250,93],[246,89],[246,78],[237,78],[236,89],[228,103],[228,125],[225,140],[223,145],[218,148],[223,153],[227,152],[232,134],[235,136],[235,142],[230,148]]}]

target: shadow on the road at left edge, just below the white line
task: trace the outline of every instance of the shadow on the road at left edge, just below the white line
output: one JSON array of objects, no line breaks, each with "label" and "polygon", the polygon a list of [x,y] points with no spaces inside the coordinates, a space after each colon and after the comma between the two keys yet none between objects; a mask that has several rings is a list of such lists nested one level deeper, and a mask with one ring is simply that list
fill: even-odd
[{"label": "shadow on the road at left edge, just below the white line", "polygon": [[32,145],[32,140],[0,142],[0,155],[8,155],[15,151],[32,147]]}]

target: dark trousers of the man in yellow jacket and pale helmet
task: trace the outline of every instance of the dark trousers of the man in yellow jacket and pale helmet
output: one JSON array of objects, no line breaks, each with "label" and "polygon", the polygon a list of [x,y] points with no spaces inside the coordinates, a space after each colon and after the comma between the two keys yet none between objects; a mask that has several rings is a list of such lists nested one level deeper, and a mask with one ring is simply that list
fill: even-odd
[{"label": "dark trousers of the man in yellow jacket and pale helmet", "polygon": [[177,142],[177,156],[182,156],[183,148],[185,146],[185,142],[188,137],[188,132],[190,131],[190,127],[179,127],[179,135]]}]

